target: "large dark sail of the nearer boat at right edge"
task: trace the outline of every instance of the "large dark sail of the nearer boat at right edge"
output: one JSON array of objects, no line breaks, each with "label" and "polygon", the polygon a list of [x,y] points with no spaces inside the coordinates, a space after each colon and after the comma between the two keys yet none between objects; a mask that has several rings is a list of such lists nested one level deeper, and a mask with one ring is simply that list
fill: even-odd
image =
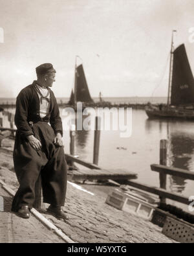
[{"label": "large dark sail of the nearer boat at right edge", "polygon": [[194,103],[194,80],[184,44],[174,51],[171,105]]}]

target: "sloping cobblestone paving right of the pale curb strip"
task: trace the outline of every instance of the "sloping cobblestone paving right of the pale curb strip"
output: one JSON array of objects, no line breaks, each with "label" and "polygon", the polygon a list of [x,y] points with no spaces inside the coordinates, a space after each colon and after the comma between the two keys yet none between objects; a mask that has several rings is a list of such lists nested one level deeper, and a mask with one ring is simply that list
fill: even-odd
[{"label": "sloping cobblestone paving right of the pale curb strip", "polygon": [[105,198],[80,191],[70,183],[64,210],[66,222],[44,214],[75,242],[175,242],[162,234],[162,229],[138,216],[105,204]]}]

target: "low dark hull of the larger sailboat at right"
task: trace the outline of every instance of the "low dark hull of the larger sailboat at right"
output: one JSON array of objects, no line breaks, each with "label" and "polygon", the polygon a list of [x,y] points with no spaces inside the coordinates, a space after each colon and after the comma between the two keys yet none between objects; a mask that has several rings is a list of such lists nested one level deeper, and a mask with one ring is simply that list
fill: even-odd
[{"label": "low dark hull of the larger sailboat at right", "polygon": [[146,114],[150,119],[182,119],[194,121],[194,110],[178,110],[176,108],[158,108],[146,107]]}]

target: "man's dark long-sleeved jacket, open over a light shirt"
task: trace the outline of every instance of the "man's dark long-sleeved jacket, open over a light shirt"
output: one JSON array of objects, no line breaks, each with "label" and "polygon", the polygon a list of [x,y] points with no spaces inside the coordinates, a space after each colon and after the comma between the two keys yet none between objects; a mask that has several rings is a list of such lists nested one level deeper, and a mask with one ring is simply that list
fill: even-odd
[{"label": "man's dark long-sleeved jacket, open over a light shirt", "polygon": [[61,117],[59,116],[59,108],[54,93],[50,90],[50,110],[45,117],[41,118],[39,115],[39,97],[35,85],[36,81],[22,89],[17,96],[15,115],[17,132],[19,135],[26,137],[33,134],[28,122],[45,121],[50,122],[55,134],[60,132],[63,135]]}]

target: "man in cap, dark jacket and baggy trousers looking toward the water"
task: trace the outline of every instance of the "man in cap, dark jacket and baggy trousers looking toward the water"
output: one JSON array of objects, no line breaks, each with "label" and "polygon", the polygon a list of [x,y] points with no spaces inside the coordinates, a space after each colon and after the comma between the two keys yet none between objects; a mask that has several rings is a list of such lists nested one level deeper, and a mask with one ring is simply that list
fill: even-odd
[{"label": "man in cap, dark jacket and baggy trousers looking toward the water", "polygon": [[61,210],[67,188],[63,128],[58,104],[50,89],[56,71],[52,64],[42,64],[36,67],[36,74],[38,79],[22,89],[16,101],[14,169],[20,186],[12,211],[22,218],[30,217],[35,184],[41,175],[43,202],[50,204],[47,211],[68,219]]}]

